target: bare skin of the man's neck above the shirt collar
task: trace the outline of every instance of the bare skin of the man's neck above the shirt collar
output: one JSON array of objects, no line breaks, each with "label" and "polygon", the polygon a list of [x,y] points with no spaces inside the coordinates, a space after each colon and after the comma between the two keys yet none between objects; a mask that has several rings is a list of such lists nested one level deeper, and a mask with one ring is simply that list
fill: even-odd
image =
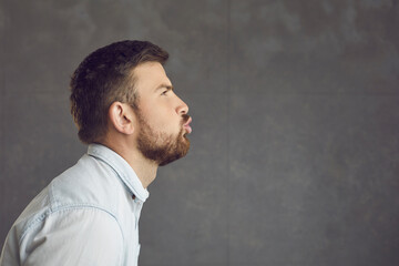
[{"label": "bare skin of the man's neck above the shirt collar", "polygon": [[101,144],[117,153],[129,163],[136,173],[144,188],[147,188],[147,186],[155,180],[158,165],[144,157],[136,149],[127,147],[127,145],[124,144],[110,143],[108,141],[103,141]]}]

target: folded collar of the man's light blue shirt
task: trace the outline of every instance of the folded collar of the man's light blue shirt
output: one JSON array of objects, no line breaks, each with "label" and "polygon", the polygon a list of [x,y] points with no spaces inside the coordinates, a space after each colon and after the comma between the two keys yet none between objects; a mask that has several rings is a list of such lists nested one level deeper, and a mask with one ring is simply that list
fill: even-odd
[{"label": "folded collar of the man's light blue shirt", "polygon": [[143,184],[134,173],[134,170],[121,155],[101,144],[90,144],[88,154],[109,164],[117,173],[119,177],[123,181],[130,192],[139,201],[145,202],[150,195],[149,191],[143,187]]}]

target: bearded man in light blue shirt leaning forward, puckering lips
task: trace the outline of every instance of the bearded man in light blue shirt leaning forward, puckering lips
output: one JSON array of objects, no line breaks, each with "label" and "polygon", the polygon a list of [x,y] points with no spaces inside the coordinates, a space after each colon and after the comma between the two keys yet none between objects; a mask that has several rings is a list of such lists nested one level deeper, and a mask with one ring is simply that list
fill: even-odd
[{"label": "bearded man in light blue shirt leaning forward, puckering lips", "polygon": [[150,42],[122,41],[79,65],[71,113],[88,153],[23,211],[1,266],[137,265],[146,187],[190,147],[188,106],[165,74],[167,58]]}]

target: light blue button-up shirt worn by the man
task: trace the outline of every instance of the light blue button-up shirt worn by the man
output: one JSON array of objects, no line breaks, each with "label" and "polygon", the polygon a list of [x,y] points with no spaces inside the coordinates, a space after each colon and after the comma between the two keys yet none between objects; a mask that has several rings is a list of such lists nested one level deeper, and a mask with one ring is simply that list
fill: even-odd
[{"label": "light blue button-up shirt worn by the man", "polygon": [[18,217],[0,266],[137,265],[139,218],[147,197],[126,161],[91,144]]}]

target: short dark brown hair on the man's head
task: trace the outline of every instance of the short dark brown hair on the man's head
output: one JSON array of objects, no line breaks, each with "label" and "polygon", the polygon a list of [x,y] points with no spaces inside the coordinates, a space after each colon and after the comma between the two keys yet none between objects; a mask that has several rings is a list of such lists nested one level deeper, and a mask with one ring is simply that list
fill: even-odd
[{"label": "short dark brown hair on the man's head", "polygon": [[71,78],[71,114],[86,144],[106,133],[108,111],[115,101],[136,106],[133,70],[144,62],[164,64],[168,53],[147,41],[120,41],[89,54]]}]

